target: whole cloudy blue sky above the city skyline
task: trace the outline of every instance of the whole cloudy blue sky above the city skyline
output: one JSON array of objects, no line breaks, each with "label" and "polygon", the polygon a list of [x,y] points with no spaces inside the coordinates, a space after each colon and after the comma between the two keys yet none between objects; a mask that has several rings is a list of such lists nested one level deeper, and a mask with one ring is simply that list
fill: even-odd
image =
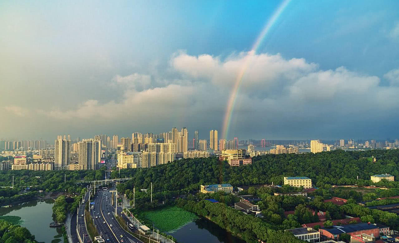
[{"label": "whole cloudy blue sky above the city skyline", "polygon": [[184,126],[203,139],[211,129],[220,139],[395,139],[397,9],[395,0],[1,1],[0,139]]}]

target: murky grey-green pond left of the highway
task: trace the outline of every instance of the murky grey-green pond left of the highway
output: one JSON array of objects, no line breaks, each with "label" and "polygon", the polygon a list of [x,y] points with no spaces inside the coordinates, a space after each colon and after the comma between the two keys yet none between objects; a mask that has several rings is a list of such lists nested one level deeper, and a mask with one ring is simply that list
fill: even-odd
[{"label": "murky grey-green pond left of the highway", "polygon": [[29,229],[39,242],[57,243],[62,242],[61,228],[50,228],[53,221],[54,200],[33,200],[12,207],[0,207],[0,216],[19,216],[24,223],[23,227]]}]

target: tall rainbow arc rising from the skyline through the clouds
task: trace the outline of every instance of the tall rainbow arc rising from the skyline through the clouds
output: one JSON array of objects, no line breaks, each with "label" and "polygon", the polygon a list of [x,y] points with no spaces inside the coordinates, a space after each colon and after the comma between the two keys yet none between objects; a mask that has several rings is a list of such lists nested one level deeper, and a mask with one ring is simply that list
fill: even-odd
[{"label": "tall rainbow arc rising from the skyline through the clouds", "polygon": [[258,38],[256,39],[255,43],[252,46],[251,51],[248,51],[247,55],[244,57],[244,64],[241,67],[237,79],[235,80],[234,87],[231,91],[231,95],[229,97],[229,100],[227,102],[227,108],[224,116],[224,121],[223,121],[223,138],[227,139],[227,135],[229,133],[229,128],[230,128],[230,123],[231,123],[231,116],[233,114],[234,110],[234,105],[235,101],[237,99],[237,94],[240,89],[241,83],[243,81],[243,77],[245,74],[245,71],[247,71],[249,61],[251,60],[251,57],[256,54],[257,49],[261,45],[263,39],[266,37],[267,33],[271,30],[273,24],[277,21],[279,16],[282,14],[286,6],[290,3],[291,0],[284,0],[279,7],[276,9],[276,11],[273,13],[271,18],[267,21],[265,27],[262,29],[261,33],[259,34]]}]

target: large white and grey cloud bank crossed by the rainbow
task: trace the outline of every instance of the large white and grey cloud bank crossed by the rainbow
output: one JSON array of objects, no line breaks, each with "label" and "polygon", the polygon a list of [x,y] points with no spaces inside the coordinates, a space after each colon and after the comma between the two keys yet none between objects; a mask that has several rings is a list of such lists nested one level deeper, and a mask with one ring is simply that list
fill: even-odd
[{"label": "large white and grey cloud bank crossed by the rainbow", "polygon": [[386,114],[396,119],[399,108],[396,103],[386,105],[399,93],[395,86],[398,69],[384,75],[391,86],[383,87],[377,76],[346,67],[323,70],[303,58],[285,59],[280,54],[241,52],[222,59],[178,52],[169,64],[171,68],[159,70],[159,75],[115,75],[110,83],[122,90],[119,99],[89,99],[70,109],[39,113],[75,126],[109,124],[128,132],[173,126],[221,130],[227,101],[241,72],[230,129],[236,136],[284,134],[293,124],[301,124],[296,132],[320,134],[336,127],[339,117],[353,117],[357,124]]}]

